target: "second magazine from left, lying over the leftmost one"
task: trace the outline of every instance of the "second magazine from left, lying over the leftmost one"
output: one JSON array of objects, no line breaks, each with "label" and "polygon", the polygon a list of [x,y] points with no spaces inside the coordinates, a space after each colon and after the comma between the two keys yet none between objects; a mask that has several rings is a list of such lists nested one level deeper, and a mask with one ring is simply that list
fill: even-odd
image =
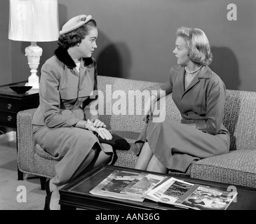
[{"label": "second magazine from left, lying over the leftmost one", "polygon": [[159,182],[161,182],[165,176],[147,174],[140,181],[133,185],[128,185],[124,188],[121,193],[125,193],[127,195],[135,195],[138,197],[142,197],[145,192],[154,188]]}]

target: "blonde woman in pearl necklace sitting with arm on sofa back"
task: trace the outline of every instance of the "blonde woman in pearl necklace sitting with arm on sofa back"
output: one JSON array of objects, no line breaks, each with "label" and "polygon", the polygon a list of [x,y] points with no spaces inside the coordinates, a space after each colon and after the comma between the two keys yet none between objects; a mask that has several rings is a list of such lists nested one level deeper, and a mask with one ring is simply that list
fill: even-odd
[{"label": "blonde woman in pearl necklace sitting with arm on sofa back", "polygon": [[[222,124],[226,89],[208,66],[213,56],[206,34],[201,29],[180,27],[173,54],[177,65],[170,69],[169,80],[145,106],[147,125],[136,141],[136,169],[186,172],[193,160],[229,151],[229,132]],[[151,122],[156,101],[170,93],[181,123]]]}]

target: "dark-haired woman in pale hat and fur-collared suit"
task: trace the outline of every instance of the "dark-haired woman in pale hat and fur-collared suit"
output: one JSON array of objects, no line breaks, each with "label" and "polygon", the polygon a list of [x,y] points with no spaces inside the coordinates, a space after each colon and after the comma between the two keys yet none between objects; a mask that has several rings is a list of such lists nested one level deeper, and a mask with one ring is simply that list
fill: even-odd
[{"label": "dark-haired woman in pale hat and fur-collared suit", "polygon": [[[45,209],[59,208],[58,190],[89,169],[112,161],[112,139],[97,119],[97,25],[90,15],[69,20],[60,31],[55,55],[41,68],[40,104],[32,120],[34,140],[57,161],[46,181]],[[95,113],[96,112],[96,113]]]}]

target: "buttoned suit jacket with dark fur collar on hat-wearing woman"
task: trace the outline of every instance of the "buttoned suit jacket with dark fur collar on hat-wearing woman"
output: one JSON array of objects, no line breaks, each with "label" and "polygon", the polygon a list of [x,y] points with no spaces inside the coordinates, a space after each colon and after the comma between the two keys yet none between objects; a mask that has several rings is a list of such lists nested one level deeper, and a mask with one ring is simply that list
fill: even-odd
[{"label": "buttoned suit jacket with dark fur collar on hat-wearing woman", "polygon": [[97,99],[97,67],[92,58],[83,58],[80,71],[67,50],[58,48],[41,68],[40,104],[33,125],[72,127],[79,120],[92,119],[90,105]]}]

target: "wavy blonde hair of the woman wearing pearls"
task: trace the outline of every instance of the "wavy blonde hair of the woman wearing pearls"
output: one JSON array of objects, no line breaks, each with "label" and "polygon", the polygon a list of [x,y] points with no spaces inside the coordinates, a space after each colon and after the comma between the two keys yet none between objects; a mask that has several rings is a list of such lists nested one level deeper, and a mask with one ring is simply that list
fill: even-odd
[{"label": "wavy blonde hair of the woman wearing pearls", "polygon": [[209,65],[213,61],[210,43],[201,29],[180,27],[177,29],[176,35],[184,38],[187,42],[191,62],[202,66]]}]

